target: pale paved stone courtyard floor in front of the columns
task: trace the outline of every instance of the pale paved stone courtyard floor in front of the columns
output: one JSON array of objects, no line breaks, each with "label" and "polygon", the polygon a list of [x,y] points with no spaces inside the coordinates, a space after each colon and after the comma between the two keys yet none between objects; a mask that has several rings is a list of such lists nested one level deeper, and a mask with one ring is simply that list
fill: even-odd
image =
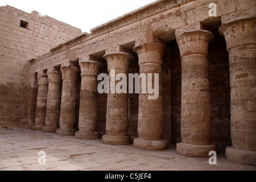
[{"label": "pale paved stone courtyard floor in front of the columns", "polygon": [[[46,152],[46,164],[39,165],[39,151]],[[0,129],[0,170],[256,170],[229,162],[217,155],[217,165],[209,158],[188,158],[176,154],[175,145],[163,151],[139,150],[133,144],[112,146],[98,140],[61,137],[28,129]]]}]

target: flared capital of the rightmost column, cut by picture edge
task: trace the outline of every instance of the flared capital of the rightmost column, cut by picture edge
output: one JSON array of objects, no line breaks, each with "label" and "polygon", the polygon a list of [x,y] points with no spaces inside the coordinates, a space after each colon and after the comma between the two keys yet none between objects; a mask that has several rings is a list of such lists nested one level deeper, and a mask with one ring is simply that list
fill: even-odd
[{"label": "flared capital of the rightmost column, cut by picture edge", "polygon": [[256,44],[256,18],[242,18],[222,24],[218,31],[225,36],[227,50],[246,44]]}]

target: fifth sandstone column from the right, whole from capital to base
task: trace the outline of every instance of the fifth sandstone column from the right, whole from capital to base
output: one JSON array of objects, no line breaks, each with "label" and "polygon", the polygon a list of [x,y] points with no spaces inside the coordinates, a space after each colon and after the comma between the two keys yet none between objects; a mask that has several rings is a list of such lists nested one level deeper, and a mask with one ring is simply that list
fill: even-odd
[{"label": "fifth sandstone column from the right, whole from capital to base", "polygon": [[98,139],[97,132],[97,76],[102,63],[93,60],[80,61],[81,93],[79,109],[79,131],[76,138]]}]

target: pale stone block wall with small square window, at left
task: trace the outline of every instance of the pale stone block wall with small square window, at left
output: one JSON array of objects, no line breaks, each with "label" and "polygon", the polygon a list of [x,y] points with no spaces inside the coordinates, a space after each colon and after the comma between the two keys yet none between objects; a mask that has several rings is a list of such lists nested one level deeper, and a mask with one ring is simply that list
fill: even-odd
[{"label": "pale stone block wall with small square window, at left", "polygon": [[0,7],[0,32],[0,127],[28,127],[28,107],[34,103],[29,99],[37,93],[37,84],[29,80],[28,60],[82,32],[37,11],[28,14],[9,5]]}]

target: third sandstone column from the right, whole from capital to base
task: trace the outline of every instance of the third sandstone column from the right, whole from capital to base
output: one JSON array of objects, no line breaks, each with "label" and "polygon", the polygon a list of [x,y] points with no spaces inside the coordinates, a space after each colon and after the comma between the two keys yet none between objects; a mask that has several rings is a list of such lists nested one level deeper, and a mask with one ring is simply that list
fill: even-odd
[{"label": "third sandstone column from the right, whole from capital to base", "polygon": [[[139,92],[138,138],[134,146],[143,150],[164,150],[167,140],[163,140],[163,97],[162,97],[162,64],[165,46],[159,43],[144,43],[134,47],[139,57],[139,73],[147,77],[146,85],[150,84],[148,74],[152,73],[152,88],[159,83],[158,97],[150,98],[153,94],[142,93],[142,83]],[[158,74],[159,80],[154,80]],[[156,89],[156,88],[155,88]]]}]

